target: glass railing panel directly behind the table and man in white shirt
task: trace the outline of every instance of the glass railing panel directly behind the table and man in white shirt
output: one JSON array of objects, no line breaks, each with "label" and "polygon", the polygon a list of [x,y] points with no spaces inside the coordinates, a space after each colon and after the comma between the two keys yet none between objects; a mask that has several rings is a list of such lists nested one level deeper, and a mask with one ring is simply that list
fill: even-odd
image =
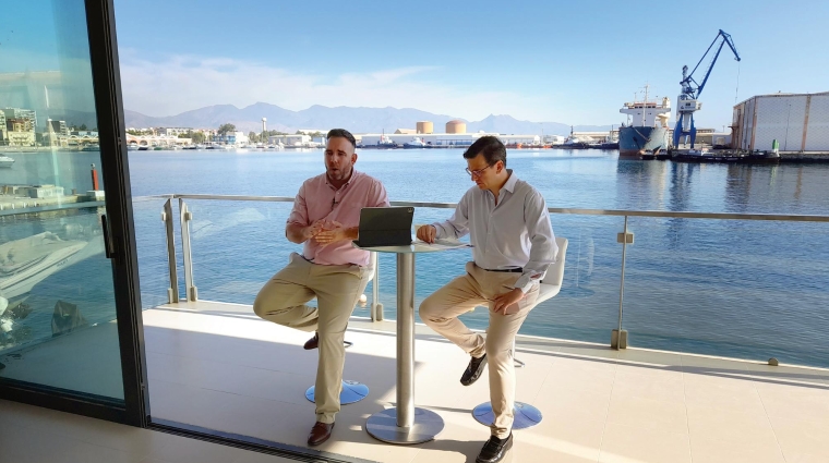
[{"label": "glass railing panel directly behind the table and man in white shirt", "polygon": [[[454,209],[418,207],[414,223],[432,223],[449,218]],[[553,232],[568,240],[564,281],[561,292],[536,306],[520,333],[589,342],[610,342],[610,331],[617,324],[618,279],[622,247],[616,233],[621,217],[552,215]],[[464,239],[467,241],[468,236]],[[418,255],[414,304],[465,272],[472,260],[471,249],[452,249]],[[385,316],[395,319],[396,260],[381,254],[380,293]],[[473,329],[485,329],[489,312],[483,307],[461,316]],[[421,321],[420,318],[417,318]]]}]

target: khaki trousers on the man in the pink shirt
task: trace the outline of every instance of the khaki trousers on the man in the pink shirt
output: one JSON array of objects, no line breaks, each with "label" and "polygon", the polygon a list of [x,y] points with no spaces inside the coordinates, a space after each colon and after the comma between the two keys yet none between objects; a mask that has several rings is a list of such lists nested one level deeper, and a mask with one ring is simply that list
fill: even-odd
[{"label": "khaki trousers on the man in the pink shirt", "polygon": [[[317,422],[334,423],[339,412],[346,363],[343,340],[369,279],[367,267],[319,265],[292,253],[288,266],[265,283],[253,303],[253,312],[265,320],[320,334],[314,391]],[[319,308],[307,305],[314,296]]]}]

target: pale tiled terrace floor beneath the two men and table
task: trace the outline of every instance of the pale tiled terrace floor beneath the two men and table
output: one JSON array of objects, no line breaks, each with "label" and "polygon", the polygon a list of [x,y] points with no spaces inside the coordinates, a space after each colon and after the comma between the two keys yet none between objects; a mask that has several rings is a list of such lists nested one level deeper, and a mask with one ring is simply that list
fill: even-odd
[{"label": "pale tiled terrace floor beneath the two men and table", "polygon": [[[154,418],[305,447],[314,407],[304,391],[316,368],[316,351],[301,349],[308,333],[264,322],[249,306],[205,302],[147,310],[144,325]],[[418,327],[416,403],[437,412],[444,431],[419,446],[391,446],[365,432],[369,415],[394,406],[393,331],[391,322],[352,319],[346,339],[355,345],[347,351],[345,378],[367,383],[371,392],[343,407],[332,440],[319,449],[380,462],[473,462],[489,435],[471,416],[476,405],[489,400],[486,374],[471,387],[460,386],[468,357],[424,327]],[[517,356],[527,363],[516,370],[517,399],[538,406],[544,419],[515,432],[507,461],[829,462],[827,370],[635,349],[616,352],[539,338],[519,339]],[[5,411],[11,405],[0,406]],[[79,439],[72,435],[74,425],[61,425],[70,418],[39,413],[58,416],[51,427],[43,425],[53,435]],[[84,426],[77,435],[86,443],[79,452],[107,447],[103,440],[84,440]],[[105,426],[115,425],[96,424],[95,430]],[[9,428],[21,439],[27,435],[0,421],[0,430]],[[112,439],[120,446],[112,450],[125,461],[135,460],[124,454],[200,463],[238,458],[221,456],[225,449],[191,450],[202,442],[130,432],[142,436],[139,443]],[[4,434],[0,431],[0,448],[8,442]],[[173,450],[179,444],[183,450]],[[0,461],[5,461],[1,451]]]}]

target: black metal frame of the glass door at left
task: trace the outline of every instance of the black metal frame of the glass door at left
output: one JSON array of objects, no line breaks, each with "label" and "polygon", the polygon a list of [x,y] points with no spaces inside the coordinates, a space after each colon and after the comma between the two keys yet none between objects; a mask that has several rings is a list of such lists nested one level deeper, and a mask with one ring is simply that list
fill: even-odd
[{"label": "black metal frame of the glass door at left", "polygon": [[139,263],[132,190],[124,139],[123,103],[112,0],[84,0],[89,59],[98,119],[101,175],[106,190],[105,236],[112,266],[124,402],[60,388],[10,381],[0,398],[48,409],[146,427],[149,416]]}]

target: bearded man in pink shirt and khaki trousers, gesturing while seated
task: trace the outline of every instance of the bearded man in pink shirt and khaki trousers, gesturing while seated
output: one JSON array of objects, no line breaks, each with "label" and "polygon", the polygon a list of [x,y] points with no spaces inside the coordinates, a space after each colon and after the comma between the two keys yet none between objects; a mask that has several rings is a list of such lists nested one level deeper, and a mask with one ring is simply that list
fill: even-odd
[{"label": "bearded man in pink shirt and khaki trousers, gesturing while seated", "polygon": [[[302,183],[285,228],[288,240],[304,244],[302,254],[292,253],[253,303],[253,312],[265,320],[317,332],[316,423],[310,446],[328,440],[334,428],[346,360],[344,336],[369,280],[369,253],[351,245],[358,239],[360,209],[388,206],[383,184],[353,169],[353,135],[334,129],[327,141],[325,173]],[[307,305],[314,296],[319,308]]]}]

